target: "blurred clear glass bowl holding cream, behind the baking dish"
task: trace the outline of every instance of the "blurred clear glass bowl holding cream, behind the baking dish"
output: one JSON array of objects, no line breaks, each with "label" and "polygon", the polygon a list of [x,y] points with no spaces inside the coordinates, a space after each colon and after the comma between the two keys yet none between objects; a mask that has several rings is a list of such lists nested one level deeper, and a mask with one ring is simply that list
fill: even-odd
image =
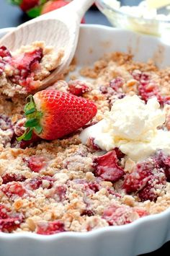
[{"label": "blurred clear glass bowl holding cream, behind the baking dish", "polygon": [[[161,0],[160,0],[161,1]],[[117,4],[116,4],[117,2]],[[125,5],[115,0],[97,0],[96,4],[99,10],[109,19],[114,27],[120,27],[144,34],[162,36],[170,34],[170,9],[164,7],[159,9],[156,14],[155,10],[150,10],[143,14],[139,14],[136,6],[142,1],[121,1],[128,3],[133,9],[127,9]]]}]

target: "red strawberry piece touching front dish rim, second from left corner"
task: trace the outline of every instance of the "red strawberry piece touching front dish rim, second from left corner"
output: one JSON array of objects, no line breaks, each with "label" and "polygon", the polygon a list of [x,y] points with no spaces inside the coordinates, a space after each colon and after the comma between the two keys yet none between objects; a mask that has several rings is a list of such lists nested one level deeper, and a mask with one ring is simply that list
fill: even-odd
[{"label": "red strawberry piece touching front dish rim, second from left corner", "polygon": [[65,231],[61,221],[43,222],[37,225],[37,234],[57,234]]}]

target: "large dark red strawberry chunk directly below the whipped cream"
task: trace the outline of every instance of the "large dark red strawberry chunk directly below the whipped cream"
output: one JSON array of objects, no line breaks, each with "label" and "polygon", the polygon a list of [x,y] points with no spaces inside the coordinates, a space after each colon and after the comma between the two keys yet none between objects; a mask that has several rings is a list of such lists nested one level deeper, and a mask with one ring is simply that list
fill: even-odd
[{"label": "large dark red strawberry chunk directly below the whipped cream", "polygon": [[125,174],[124,170],[117,165],[117,155],[115,150],[109,151],[103,156],[94,159],[93,167],[95,175],[103,180],[116,182]]}]

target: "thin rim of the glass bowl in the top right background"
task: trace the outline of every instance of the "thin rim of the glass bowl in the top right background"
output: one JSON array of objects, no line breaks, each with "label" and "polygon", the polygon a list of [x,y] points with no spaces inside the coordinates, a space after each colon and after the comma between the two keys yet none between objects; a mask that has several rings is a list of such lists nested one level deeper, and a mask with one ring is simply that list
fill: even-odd
[{"label": "thin rim of the glass bowl in the top right background", "polygon": [[[143,20],[143,21],[152,22],[152,23],[162,22],[162,23],[165,23],[165,24],[168,24],[168,25],[170,24],[170,19],[169,20],[164,20],[164,19],[151,19],[151,18],[135,17],[133,14],[128,14],[128,13],[125,13],[125,12],[121,12],[119,9],[115,9],[112,6],[109,6],[109,4],[107,4],[105,2],[105,0],[97,0],[96,3],[97,3],[97,7],[99,8],[99,10],[101,12],[103,12],[103,11],[100,8],[100,6],[102,6],[102,8],[106,7],[111,12],[117,12],[117,14],[126,15],[126,17],[128,17],[128,18],[133,18],[133,19],[136,19],[140,22]],[[107,16],[107,14],[105,14],[105,15]]]}]

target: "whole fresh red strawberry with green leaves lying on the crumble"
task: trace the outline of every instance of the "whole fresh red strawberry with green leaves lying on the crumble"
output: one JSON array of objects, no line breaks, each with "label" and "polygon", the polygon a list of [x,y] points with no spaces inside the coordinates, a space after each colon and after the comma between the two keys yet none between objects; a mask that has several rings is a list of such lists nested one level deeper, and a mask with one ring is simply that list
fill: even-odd
[{"label": "whole fresh red strawberry with green leaves lying on the crumble", "polygon": [[53,89],[30,95],[28,100],[24,107],[27,130],[17,138],[18,141],[30,140],[32,133],[46,140],[62,138],[84,126],[97,114],[93,102]]}]

